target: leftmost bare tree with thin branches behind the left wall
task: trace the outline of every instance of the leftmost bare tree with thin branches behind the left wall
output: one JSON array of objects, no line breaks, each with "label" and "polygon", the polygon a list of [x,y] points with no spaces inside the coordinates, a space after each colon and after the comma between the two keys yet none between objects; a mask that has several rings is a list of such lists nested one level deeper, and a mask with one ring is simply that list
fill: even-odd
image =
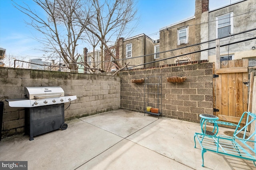
[{"label": "leftmost bare tree with thin branches behind the left wall", "polygon": [[[94,15],[87,2],[84,0],[33,0],[46,16],[32,10],[28,5],[15,7],[28,15],[31,22],[26,22],[37,31],[44,35],[43,38],[36,38],[45,45],[45,51],[50,52],[52,56],[61,57],[70,70],[77,71],[77,45],[82,41],[85,26],[88,19]],[[83,12],[77,11],[76,14],[84,18],[84,25],[76,19],[75,9],[83,9]]]}]

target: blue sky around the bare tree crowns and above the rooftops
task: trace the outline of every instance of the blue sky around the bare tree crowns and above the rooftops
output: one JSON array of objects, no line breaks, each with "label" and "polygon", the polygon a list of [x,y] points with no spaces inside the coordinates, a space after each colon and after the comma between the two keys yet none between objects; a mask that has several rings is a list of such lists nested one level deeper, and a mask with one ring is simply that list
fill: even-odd
[{"label": "blue sky around the bare tree crowns and above the rooftops", "polygon": [[[213,10],[237,2],[239,0],[210,0],[209,9]],[[25,2],[32,9],[36,9],[32,0],[14,0],[18,4]],[[159,30],[176,22],[194,16],[195,0],[138,0],[138,16],[140,22],[130,37],[146,34],[156,40]],[[35,49],[42,49],[42,45],[34,37],[38,32],[27,26],[28,16],[17,10],[11,0],[0,0],[0,47],[6,49],[6,55],[16,59],[28,61],[41,58],[45,60],[45,53]],[[38,10],[38,9],[36,9]],[[78,45],[78,52],[90,47],[87,44]]]}]

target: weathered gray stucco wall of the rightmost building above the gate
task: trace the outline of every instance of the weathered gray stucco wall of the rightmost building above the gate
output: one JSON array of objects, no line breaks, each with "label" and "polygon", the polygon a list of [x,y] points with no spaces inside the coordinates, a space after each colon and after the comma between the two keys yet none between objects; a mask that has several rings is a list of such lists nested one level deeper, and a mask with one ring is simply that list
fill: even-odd
[{"label": "weathered gray stucco wall of the rightmost building above the gate", "polygon": [[[256,28],[256,5],[255,0],[245,0],[231,6],[226,6],[224,8],[216,9],[209,12],[209,27],[208,27],[208,40],[216,39],[216,17],[233,13],[233,32],[232,34],[237,34],[247,30]],[[228,44],[232,42],[238,42],[241,40],[246,40],[248,38],[253,38],[256,31],[247,32],[245,34],[239,34],[236,36],[231,36],[229,38],[224,38],[220,40],[220,45]],[[220,55],[232,55],[234,54],[234,59],[242,59],[245,57],[256,57],[255,50],[252,50],[252,46],[255,46],[255,40],[235,43],[232,45],[220,47]],[[210,47],[215,47],[215,42],[209,43]],[[210,62],[216,61],[215,49],[209,50],[208,60]]]}]

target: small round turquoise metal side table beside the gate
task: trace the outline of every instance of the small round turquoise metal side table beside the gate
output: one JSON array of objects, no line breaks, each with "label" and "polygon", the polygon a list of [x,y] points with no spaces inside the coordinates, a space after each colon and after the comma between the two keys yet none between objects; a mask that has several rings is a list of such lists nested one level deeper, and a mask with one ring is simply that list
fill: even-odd
[{"label": "small round turquoise metal side table beside the gate", "polygon": [[[216,117],[215,115],[209,115],[209,114],[201,114],[199,115],[201,117],[200,120],[200,125],[201,125],[201,130],[203,134],[208,134],[211,136],[216,136],[216,134],[218,133],[218,124],[214,123],[214,128],[212,131],[206,130],[206,121],[207,120],[211,120],[211,121],[217,121],[219,118]],[[214,133],[215,129],[217,130],[216,133]]]}]

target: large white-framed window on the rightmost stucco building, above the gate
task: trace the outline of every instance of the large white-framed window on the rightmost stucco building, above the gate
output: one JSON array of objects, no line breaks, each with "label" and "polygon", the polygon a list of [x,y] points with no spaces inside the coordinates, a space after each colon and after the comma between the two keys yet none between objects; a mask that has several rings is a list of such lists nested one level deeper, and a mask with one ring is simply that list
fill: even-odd
[{"label": "large white-framed window on the rightmost stucco building, above the gate", "polygon": [[216,38],[230,36],[233,33],[233,12],[216,17]]}]

